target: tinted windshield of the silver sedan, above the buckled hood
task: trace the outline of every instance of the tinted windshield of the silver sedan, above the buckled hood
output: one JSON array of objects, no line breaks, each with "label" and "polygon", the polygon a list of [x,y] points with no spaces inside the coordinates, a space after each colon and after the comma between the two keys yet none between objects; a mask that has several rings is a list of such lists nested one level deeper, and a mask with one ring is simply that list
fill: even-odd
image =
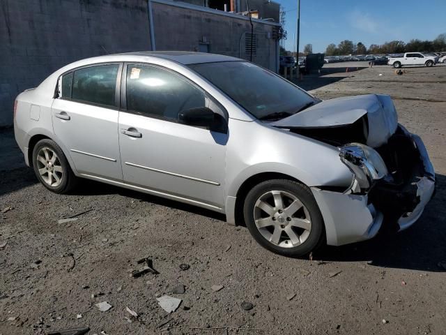
[{"label": "tinted windshield of the silver sedan, above the buckled hood", "polygon": [[247,61],[191,64],[257,119],[282,119],[318,101],[278,75]]}]

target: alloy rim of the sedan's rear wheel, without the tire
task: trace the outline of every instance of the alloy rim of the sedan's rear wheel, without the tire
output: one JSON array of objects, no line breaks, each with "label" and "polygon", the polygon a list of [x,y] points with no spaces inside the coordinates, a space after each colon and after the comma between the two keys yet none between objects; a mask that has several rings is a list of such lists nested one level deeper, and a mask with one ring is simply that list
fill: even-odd
[{"label": "alloy rim of the sedan's rear wheel, without the tire", "polygon": [[63,168],[56,152],[49,147],[42,147],[37,153],[37,168],[45,184],[57,187],[63,178]]}]

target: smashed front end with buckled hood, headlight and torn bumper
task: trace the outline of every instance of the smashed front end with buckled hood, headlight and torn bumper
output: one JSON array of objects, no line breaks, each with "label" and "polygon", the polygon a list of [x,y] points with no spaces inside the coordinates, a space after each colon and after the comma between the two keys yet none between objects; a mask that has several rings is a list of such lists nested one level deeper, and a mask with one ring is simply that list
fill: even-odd
[{"label": "smashed front end with buckled hood, headlight and torn bumper", "polygon": [[367,95],[318,105],[314,115],[308,109],[276,126],[337,147],[353,174],[346,188],[312,188],[328,244],[370,239],[380,228],[400,231],[415,223],[433,195],[435,172],[420,137],[398,124],[392,99]]}]

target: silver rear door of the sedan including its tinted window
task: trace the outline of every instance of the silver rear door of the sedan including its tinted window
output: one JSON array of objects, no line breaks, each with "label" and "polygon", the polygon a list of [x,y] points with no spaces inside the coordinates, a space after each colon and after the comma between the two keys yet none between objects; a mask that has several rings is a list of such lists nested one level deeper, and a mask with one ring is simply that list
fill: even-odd
[{"label": "silver rear door of the sedan including its tinted window", "polygon": [[68,149],[76,170],[122,180],[118,105],[122,64],[77,68],[59,78],[52,105],[54,133]]}]

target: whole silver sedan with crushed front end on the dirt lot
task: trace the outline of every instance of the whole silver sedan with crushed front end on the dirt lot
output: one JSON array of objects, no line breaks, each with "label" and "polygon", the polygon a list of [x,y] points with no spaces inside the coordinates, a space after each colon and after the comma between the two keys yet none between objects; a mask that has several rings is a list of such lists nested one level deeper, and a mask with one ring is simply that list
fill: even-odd
[{"label": "whole silver sedan with crushed front end on the dirt lot", "polygon": [[26,164],[50,191],[85,178],[187,202],[282,255],[408,228],[435,184],[389,96],[321,101],[217,54],[77,61],[17,96],[14,115]]}]

